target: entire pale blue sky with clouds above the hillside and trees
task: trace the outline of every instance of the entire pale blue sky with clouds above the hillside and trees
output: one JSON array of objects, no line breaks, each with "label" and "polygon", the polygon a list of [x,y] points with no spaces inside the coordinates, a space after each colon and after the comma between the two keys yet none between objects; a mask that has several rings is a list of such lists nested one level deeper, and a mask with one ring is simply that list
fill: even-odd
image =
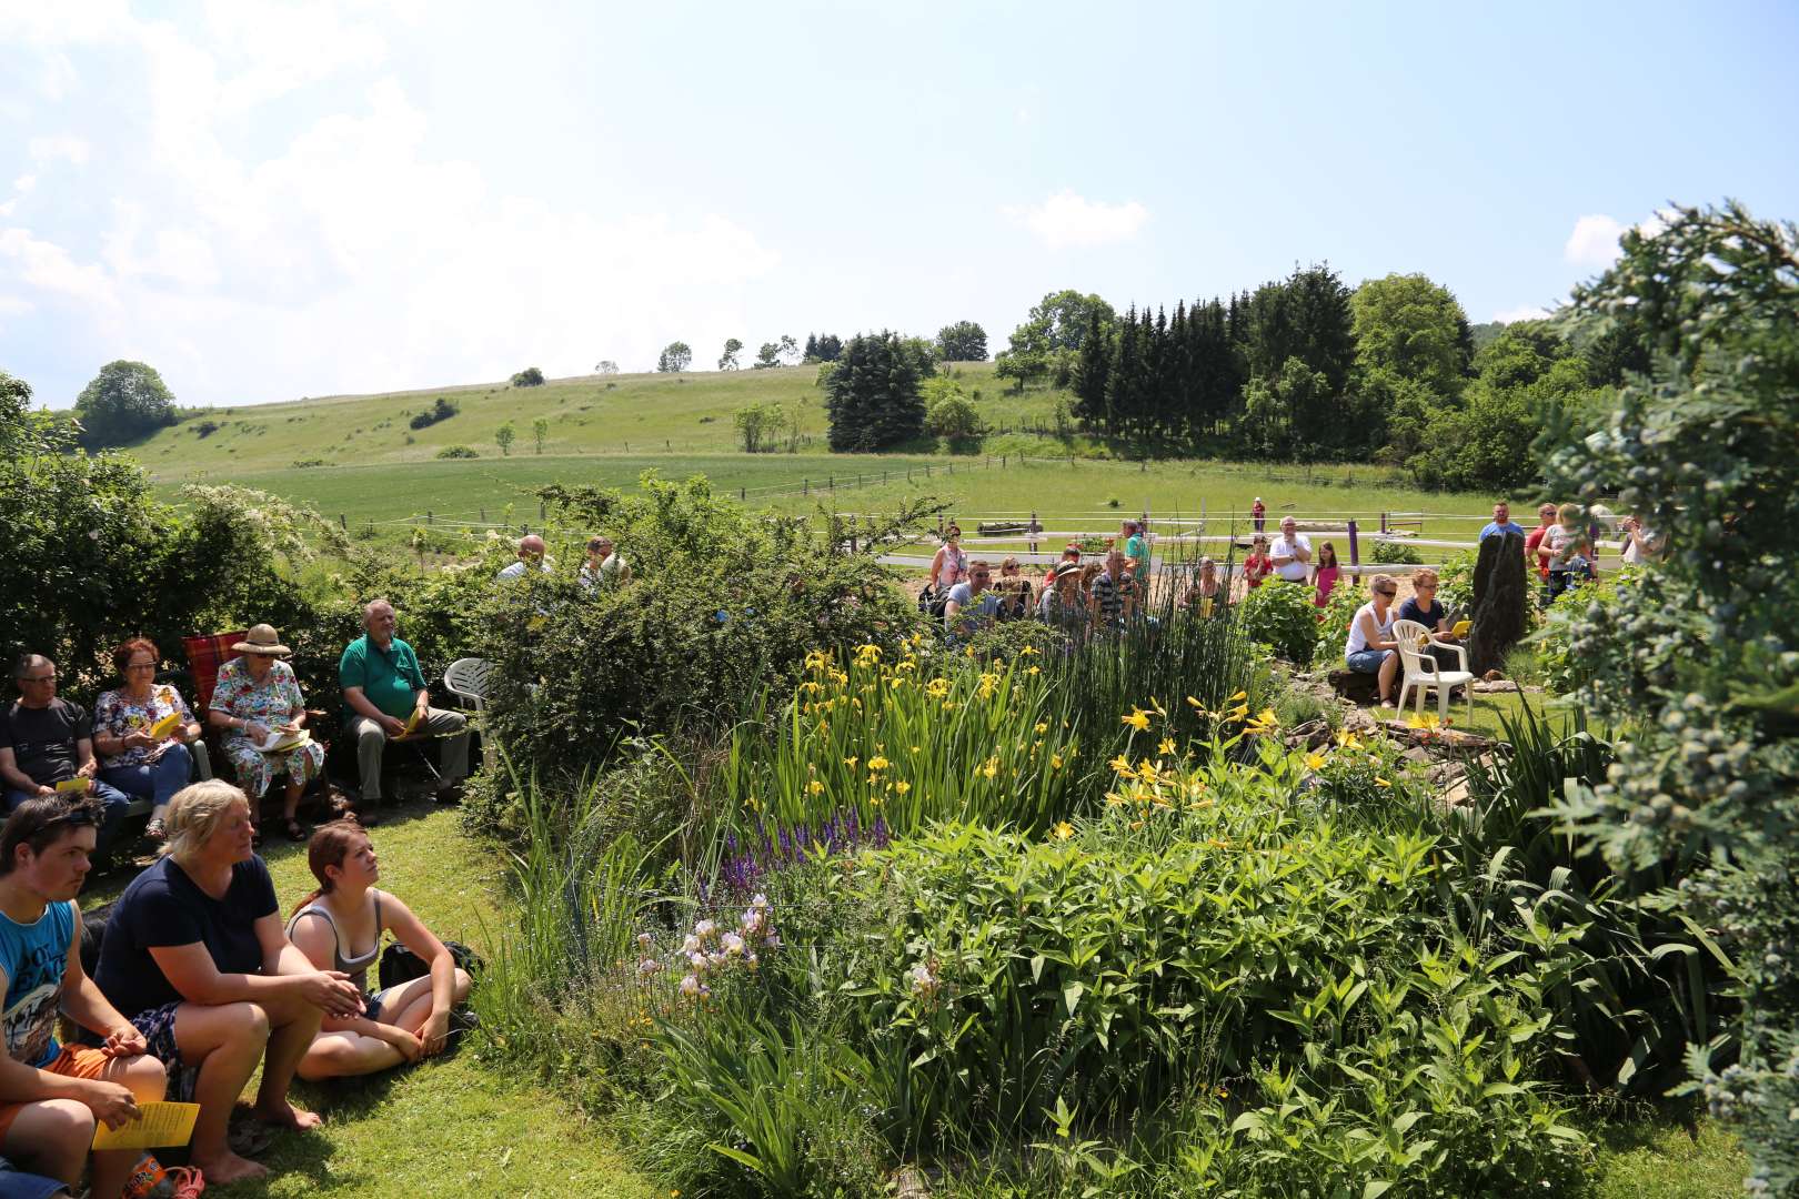
[{"label": "entire pale blue sky with clouds above the hillside and trees", "polygon": [[0,0],[0,369],[182,403],[709,367],[1329,261],[1553,306],[1799,218],[1799,5]]}]

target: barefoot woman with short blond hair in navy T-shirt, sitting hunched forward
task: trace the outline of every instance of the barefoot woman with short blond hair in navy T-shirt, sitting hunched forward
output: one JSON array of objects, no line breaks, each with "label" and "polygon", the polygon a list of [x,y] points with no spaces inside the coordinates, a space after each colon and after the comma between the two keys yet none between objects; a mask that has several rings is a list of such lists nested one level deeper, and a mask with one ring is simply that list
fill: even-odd
[{"label": "barefoot woman with short blond hair in navy T-shirt, sitting hunched forward", "polygon": [[320,1021],[362,1012],[362,992],[288,942],[243,791],[196,782],[169,800],[166,827],[164,856],[113,904],[94,976],[169,1066],[175,1097],[200,1104],[191,1149],[207,1181],[263,1177],[225,1140],[237,1097],[261,1064],[255,1116],[318,1127],[288,1088]]}]

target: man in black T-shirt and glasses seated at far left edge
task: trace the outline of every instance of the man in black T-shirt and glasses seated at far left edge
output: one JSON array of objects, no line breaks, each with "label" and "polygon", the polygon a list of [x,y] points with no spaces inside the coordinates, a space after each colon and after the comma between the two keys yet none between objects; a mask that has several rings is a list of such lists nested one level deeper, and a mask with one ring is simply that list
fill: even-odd
[{"label": "man in black T-shirt and glasses seated at far left edge", "polygon": [[5,811],[58,791],[86,791],[106,809],[94,856],[104,859],[131,796],[94,777],[94,719],[56,696],[56,663],[23,654],[13,663],[18,699],[0,712],[0,782]]}]

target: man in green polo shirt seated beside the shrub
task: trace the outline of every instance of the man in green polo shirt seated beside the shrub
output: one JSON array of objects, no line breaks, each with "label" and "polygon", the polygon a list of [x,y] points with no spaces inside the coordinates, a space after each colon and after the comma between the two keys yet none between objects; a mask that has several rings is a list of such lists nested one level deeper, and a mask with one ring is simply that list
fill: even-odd
[{"label": "man in green polo shirt seated beside the shrub", "polygon": [[394,636],[399,618],[385,599],[362,609],[362,636],[344,649],[338,683],[344,687],[344,728],[356,739],[362,800],[381,800],[381,753],[394,737],[441,737],[443,782],[437,798],[453,800],[468,777],[468,721],[461,712],[432,706],[432,692],[412,645]]}]

